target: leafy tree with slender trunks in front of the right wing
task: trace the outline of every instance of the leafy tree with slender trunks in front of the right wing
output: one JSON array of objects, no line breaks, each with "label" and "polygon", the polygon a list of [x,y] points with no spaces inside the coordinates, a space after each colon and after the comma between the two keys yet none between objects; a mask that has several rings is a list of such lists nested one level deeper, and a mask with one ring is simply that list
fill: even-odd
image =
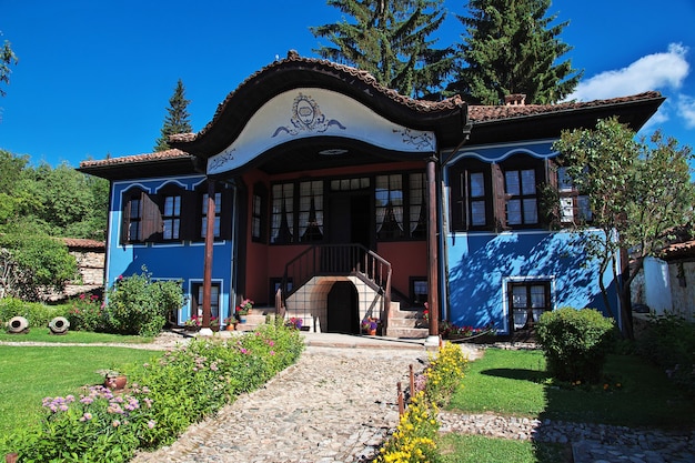
[{"label": "leafy tree with slender trunks in front of the right wing", "polygon": [[[582,232],[587,254],[600,262],[596,278],[604,304],[615,316],[602,278],[608,268],[613,270],[623,333],[632,338],[631,282],[644,259],[658,254],[673,238],[674,227],[693,219],[692,149],[658,131],[648,141],[637,141],[615,118],[600,120],[594,130],[563,131],[553,149],[561,153],[574,187],[588,198],[591,221],[573,227]],[[624,265],[620,278],[616,259],[622,250],[629,250],[635,264]]]}]

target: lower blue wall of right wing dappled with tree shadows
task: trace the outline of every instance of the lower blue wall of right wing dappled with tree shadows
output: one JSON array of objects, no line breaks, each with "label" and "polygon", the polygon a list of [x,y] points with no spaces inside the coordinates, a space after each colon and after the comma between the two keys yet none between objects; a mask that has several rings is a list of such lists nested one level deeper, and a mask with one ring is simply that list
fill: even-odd
[{"label": "lower blue wall of right wing dappled with tree shadows", "polygon": [[604,310],[598,264],[587,261],[576,233],[457,235],[449,246],[450,320],[457,325],[503,329],[506,278],[554,281],[554,306]]}]

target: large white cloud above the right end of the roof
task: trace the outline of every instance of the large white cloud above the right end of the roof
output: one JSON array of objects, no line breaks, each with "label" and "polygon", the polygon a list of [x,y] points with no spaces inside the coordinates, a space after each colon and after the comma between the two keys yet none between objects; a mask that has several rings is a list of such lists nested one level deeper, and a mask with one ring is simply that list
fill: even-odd
[{"label": "large white cloud above the right end of the roof", "polygon": [[[626,68],[605,71],[580,82],[567,100],[591,101],[669,88],[677,90],[688,74],[687,47],[671,43],[667,52],[647,54]],[[689,111],[694,111],[691,101]]]}]

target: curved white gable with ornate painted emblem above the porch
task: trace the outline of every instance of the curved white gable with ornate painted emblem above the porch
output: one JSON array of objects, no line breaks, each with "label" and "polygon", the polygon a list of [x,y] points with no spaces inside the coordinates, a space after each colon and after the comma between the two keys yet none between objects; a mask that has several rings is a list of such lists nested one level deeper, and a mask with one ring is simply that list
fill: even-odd
[{"label": "curved white gable with ornate painted emblem above the porch", "polygon": [[208,160],[208,174],[240,168],[271,148],[311,137],[351,138],[412,153],[436,150],[434,132],[395,124],[335,91],[294,89],[263,104],[236,140]]}]

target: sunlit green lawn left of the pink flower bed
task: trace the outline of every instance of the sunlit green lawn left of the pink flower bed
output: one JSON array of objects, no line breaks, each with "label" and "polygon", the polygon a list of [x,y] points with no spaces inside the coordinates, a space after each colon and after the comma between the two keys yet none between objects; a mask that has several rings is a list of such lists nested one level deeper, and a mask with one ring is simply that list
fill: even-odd
[{"label": "sunlit green lawn left of the pink flower bed", "polygon": [[161,353],[127,348],[0,345],[0,451],[4,436],[38,420],[43,397],[78,395],[81,386],[103,382],[97,370],[122,370],[155,355]]}]

